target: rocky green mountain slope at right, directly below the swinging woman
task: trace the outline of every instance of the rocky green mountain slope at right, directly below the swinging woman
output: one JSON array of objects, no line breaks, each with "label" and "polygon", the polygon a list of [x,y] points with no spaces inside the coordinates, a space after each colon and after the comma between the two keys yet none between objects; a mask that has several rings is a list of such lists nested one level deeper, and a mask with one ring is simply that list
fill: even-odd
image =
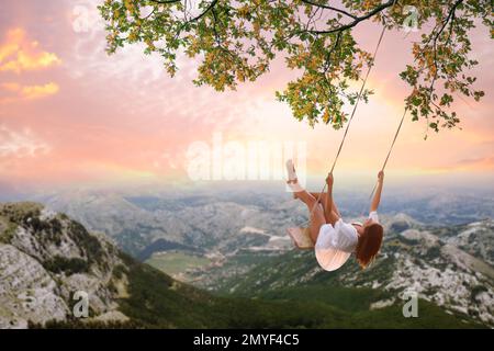
[{"label": "rocky green mountain slope at right, directly below the swinging woman", "polygon": [[[401,215],[383,216],[383,224],[382,252],[367,270],[351,260],[328,273],[312,251],[292,250],[255,264],[243,276],[217,280],[216,291],[334,304],[341,301],[341,288],[359,288],[368,291],[363,303],[371,309],[401,306],[405,292],[415,292],[449,314],[494,327],[492,219],[434,228]],[[355,301],[359,304],[358,297],[349,303]]]}]

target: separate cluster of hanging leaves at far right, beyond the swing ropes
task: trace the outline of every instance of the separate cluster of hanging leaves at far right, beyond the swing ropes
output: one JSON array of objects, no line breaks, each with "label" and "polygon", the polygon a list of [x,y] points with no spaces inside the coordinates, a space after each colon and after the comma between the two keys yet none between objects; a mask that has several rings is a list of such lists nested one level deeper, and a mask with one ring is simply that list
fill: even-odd
[{"label": "separate cluster of hanging leaves at far right, beyond the swing ropes", "polygon": [[451,111],[453,94],[473,97],[475,101],[484,95],[483,91],[472,88],[476,78],[468,75],[479,64],[469,56],[469,33],[475,27],[476,18],[492,29],[492,3],[456,0],[445,1],[444,7],[420,10],[420,18],[430,19],[434,29],[422,34],[419,43],[413,44],[414,63],[406,65],[400,77],[413,87],[406,99],[413,120],[425,117],[428,127],[438,132],[440,127],[450,128],[460,122]]}]

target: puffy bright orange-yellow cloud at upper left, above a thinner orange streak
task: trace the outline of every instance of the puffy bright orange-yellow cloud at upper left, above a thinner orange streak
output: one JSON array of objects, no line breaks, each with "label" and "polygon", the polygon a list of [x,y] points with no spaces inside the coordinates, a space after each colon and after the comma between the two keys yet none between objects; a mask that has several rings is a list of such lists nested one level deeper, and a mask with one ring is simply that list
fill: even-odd
[{"label": "puffy bright orange-yellow cloud at upper left, above a thinner orange streak", "polygon": [[15,72],[45,69],[61,64],[56,54],[44,52],[40,43],[29,41],[22,29],[7,33],[7,41],[0,45],[0,71]]}]

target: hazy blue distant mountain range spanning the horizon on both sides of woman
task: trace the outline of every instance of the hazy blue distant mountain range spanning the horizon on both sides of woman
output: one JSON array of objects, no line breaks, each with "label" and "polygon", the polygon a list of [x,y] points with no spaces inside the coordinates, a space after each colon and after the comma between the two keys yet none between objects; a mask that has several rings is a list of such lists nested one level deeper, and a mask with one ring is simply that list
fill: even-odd
[{"label": "hazy blue distant mountain range spanning the horizon on both sides of woman", "polygon": [[[287,250],[289,226],[306,222],[303,204],[281,188],[171,189],[144,191],[71,190],[35,199],[67,213],[89,230],[111,237],[127,253],[147,259],[160,252],[162,240],[231,256],[236,250]],[[335,194],[341,213],[356,217],[367,193]],[[403,215],[429,226],[463,225],[494,217],[494,195],[440,190],[386,190],[382,213]]]}]

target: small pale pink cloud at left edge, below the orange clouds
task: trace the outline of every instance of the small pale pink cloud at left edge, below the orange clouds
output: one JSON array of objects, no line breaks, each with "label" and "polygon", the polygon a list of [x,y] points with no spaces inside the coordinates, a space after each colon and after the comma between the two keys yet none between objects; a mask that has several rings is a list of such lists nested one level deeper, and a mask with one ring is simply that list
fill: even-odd
[{"label": "small pale pink cloud at left edge, below the orange clouds", "polygon": [[0,125],[0,158],[25,158],[46,155],[50,147],[30,129],[15,132]]}]

